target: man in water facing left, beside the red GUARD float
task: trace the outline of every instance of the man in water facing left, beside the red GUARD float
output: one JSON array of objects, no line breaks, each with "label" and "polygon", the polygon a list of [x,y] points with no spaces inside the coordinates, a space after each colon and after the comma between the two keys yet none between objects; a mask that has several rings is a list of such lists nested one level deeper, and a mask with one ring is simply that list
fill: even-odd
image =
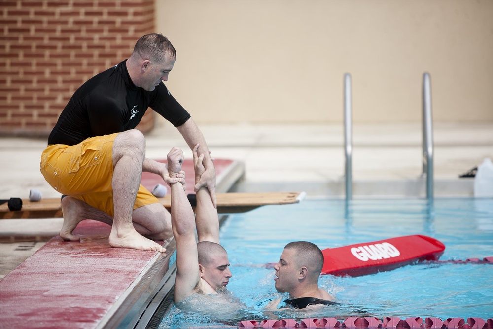
[{"label": "man in water facing left, beside the red GUARD float", "polygon": [[322,271],[323,254],[320,248],[307,241],[290,242],[284,247],[276,270],[276,290],[289,293],[290,299],[276,299],[266,308],[278,309],[291,305],[303,309],[309,305],[336,304],[328,292],[318,287]]}]

